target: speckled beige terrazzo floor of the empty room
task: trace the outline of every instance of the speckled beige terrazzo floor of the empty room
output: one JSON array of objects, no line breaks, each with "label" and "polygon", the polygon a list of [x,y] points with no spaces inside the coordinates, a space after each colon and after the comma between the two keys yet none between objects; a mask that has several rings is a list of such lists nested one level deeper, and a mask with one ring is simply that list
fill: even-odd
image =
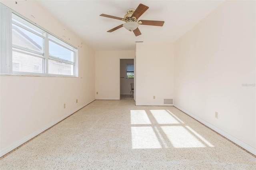
[{"label": "speckled beige terrazzo floor of the empty room", "polygon": [[0,160],[0,169],[256,169],[256,158],[175,107],[94,101]]}]

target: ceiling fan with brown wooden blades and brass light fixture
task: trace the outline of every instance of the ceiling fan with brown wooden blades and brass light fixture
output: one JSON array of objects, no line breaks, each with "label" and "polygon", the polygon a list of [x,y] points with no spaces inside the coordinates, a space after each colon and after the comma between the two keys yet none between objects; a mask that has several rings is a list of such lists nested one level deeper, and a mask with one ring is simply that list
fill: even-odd
[{"label": "ceiling fan with brown wooden blades and brass light fixture", "polygon": [[148,10],[148,6],[139,4],[139,6],[134,9],[129,9],[127,10],[127,14],[124,16],[124,18],[116,17],[116,16],[111,16],[107,14],[100,14],[100,16],[104,16],[107,18],[113,18],[116,20],[122,20],[125,21],[124,24],[121,24],[120,26],[117,26],[111,30],[108,30],[107,32],[113,32],[119,28],[126,28],[130,32],[134,32],[135,36],[141,35],[141,32],[138,28],[139,25],[148,25],[148,26],[163,26],[164,21],[152,21],[152,20],[138,20],[138,18]]}]

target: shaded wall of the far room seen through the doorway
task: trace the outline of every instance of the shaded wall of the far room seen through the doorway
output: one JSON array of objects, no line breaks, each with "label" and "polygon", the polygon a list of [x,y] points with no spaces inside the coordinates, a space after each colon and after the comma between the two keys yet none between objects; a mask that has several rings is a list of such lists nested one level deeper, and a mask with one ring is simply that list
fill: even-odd
[{"label": "shaded wall of the far room seen through the doorway", "polygon": [[126,64],[134,64],[134,59],[120,59],[120,94],[129,95],[132,94],[131,83],[134,83],[134,79],[126,79]]}]

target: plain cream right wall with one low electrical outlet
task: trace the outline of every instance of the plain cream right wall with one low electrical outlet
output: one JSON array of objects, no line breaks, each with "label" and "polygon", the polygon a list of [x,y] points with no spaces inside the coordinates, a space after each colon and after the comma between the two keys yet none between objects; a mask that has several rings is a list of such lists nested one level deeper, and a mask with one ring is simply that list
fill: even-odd
[{"label": "plain cream right wall with one low electrical outlet", "polygon": [[255,1],[228,1],[174,48],[175,106],[254,154],[255,30]]}]

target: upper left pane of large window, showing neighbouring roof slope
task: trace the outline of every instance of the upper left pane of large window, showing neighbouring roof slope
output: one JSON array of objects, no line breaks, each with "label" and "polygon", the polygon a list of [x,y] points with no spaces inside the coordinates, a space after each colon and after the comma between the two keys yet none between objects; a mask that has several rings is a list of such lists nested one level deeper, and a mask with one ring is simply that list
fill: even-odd
[{"label": "upper left pane of large window, showing neighbouring roof slope", "polygon": [[42,37],[12,24],[12,44],[42,52],[43,43],[44,39]]}]

